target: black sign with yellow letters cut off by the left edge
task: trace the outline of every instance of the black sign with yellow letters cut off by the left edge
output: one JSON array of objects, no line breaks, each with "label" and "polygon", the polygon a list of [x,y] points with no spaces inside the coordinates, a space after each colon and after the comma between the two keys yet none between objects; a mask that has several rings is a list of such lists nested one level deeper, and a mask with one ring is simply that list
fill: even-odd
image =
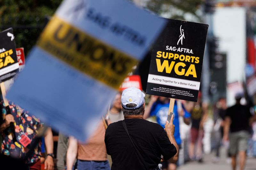
[{"label": "black sign with yellow letters cut off by the left edge", "polygon": [[0,33],[0,82],[13,78],[19,72],[19,63],[12,28]]}]

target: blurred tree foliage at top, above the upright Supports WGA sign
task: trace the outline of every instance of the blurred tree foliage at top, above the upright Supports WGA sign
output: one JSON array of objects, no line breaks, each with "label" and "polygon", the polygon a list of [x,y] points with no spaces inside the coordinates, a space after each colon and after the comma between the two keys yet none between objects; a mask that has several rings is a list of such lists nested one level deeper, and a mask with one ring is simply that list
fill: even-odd
[{"label": "blurred tree foliage at top, above the upright Supports WGA sign", "polygon": [[184,14],[192,14],[200,20],[196,11],[204,0],[148,0],[146,8],[158,15],[184,20]]}]

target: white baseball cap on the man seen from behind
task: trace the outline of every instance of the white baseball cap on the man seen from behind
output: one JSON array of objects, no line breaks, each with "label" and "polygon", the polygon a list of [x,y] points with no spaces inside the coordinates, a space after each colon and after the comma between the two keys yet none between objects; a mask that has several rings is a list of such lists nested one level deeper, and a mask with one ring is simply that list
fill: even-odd
[{"label": "white baseball cap on the man seen from behind", "polygon": [[[125,89],[121,96],[122,106],[126,109],[136,109],[144,104],[145,94],[136,87],[129,87]],[[127,104],[134,103],[135,107],[126,107]]]}]

